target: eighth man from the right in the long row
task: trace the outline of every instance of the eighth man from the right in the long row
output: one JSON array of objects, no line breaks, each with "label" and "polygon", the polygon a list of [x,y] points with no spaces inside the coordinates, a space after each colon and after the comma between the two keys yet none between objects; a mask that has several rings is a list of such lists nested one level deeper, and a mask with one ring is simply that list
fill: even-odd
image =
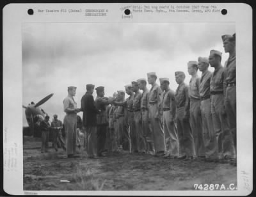
[{"label": "eighth man from the right in the long row", "polygon": [[141,78],[137,80],[140,90],[143,91],[141,96],[141,120],[143,128],[143,136],[147,142],[146,152],[147,154],[154,154],[154,144],[152,139],[152,129],[148,118],[148,97],[149,91],[147,88],[147,79]]}]

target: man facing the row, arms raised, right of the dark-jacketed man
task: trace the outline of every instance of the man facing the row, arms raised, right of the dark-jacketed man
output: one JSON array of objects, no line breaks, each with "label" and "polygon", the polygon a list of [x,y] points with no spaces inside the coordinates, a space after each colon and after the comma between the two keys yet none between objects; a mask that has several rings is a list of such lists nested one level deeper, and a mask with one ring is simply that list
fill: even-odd
[{"label": "man facing the row, arms raised, right of the dark-jacketed man", "polygon": [[104,97],[104,87],[99,86],[95,88],[97,97],[95,99],[95,106],[100,111],[97,114],[97,155],[99,157],[106,157],[104,152],[105,143],[106,143],[106,134],[108,130],[108,116],[106,113],[106,107],[110,103],[108,98]]}]

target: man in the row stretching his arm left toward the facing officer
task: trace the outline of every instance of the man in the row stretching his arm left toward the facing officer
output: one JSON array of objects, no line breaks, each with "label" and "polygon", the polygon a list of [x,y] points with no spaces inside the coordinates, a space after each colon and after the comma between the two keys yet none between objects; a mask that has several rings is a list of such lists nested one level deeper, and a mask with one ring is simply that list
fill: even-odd
[{"label": "man in the row stretching his arm left toward the facing officer", "polygon": [[[129,151],[134,152],[136,151],[136,147],[132,146],[131,144],[131,134],[134,133],[134,114],[132,110],[134,93],[132,91],[132,85],[127,84],[125,87],[125,93],[129,95],[129,97],[123,101],[115,101],[116,106],[123,106],[124,107],[124,114],[125,114],[125,130],[124,130],[124,142],[125,144],[127,141],[129,142]],[[127,123],[127,124],[126,124]],[[124,148],[124,147],[123,147]]]}]

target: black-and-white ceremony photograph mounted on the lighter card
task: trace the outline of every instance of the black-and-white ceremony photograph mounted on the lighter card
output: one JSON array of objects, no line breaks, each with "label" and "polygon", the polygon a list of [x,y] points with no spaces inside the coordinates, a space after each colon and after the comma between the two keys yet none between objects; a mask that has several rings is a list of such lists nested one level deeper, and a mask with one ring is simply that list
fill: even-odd
[{"label": "black-and-white ceremony photograph mounted on the lighter card", "polygon": [[237,191],[236,22],[20,28],[24,191]]}]

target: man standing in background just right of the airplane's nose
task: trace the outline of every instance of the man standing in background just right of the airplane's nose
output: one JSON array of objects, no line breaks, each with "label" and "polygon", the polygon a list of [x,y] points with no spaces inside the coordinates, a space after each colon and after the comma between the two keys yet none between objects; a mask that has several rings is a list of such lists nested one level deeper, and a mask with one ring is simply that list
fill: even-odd
[{"label": "man standing in background just right of the airplane's nose", "polygon": [[61,135],[62,122],[60,120],[58,120],[57,114],[53,115],[51,129],[52,129],[53,148],[56,151],[58,151],[57,142],[60,141],[61,147],[63,148],[64,151],[66,151],[65,143],[64,143],[62,135]]}]

